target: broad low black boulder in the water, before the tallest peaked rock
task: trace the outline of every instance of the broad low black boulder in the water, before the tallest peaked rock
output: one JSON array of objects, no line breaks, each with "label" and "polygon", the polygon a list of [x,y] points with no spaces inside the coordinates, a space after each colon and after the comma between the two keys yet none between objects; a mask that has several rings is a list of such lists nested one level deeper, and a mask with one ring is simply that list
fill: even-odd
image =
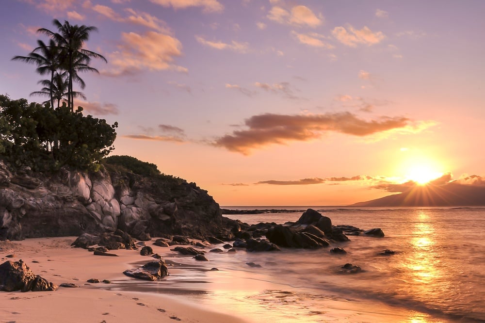
[{"label": "broad low black boulder in the water, before the tallest peaked rock", "polygon": [[328,242],[307,232],[296,232],[288,226],[277,225],[266,232],[270,242],[287,248],[318,248],[327,246]]}]

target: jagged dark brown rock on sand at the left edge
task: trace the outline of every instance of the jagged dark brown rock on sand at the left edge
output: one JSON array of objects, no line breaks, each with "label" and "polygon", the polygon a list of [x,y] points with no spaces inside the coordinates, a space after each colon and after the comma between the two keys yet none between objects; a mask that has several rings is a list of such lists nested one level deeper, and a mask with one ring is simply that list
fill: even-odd
[{"label": "jagged dark brown rock on sand at the left edge", "polygon": [[0,291],[55,291],[57,285],[48,282],[22,261],[5,261],[0,265]]}]

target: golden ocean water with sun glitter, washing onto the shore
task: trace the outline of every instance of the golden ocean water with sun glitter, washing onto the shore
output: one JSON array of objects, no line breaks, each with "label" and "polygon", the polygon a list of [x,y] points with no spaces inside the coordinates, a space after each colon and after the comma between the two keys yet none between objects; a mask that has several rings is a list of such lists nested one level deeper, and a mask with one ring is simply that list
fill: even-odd
[{"label": "golden ocean water with sun glitter, washing onto the shore", "polygon": [[[210,261],[203,264],[174,255],[165,258],[170,276],[134,284],[137,290],[180,295],[248,322],[485,322],[485,208],[312,209],[333,225],[381,228],[385,237],[349,236],[349,242],[316,250],[208,252]],[[300,216],[227,215],[248,224],[283,224]],[[332,247],[347,253],[332,254]],[[395,253],[380,255],[384,250]],[[362,272],[342,274],[346,263]]]}]

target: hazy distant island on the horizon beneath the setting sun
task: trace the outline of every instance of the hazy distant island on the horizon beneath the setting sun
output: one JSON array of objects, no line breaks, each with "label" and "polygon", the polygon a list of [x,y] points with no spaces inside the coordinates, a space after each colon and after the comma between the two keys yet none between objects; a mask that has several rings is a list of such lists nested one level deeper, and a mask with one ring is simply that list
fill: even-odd
[{"label": "hazy distant island on the horizon beneath the setting sun", "polygon": [[461,184],[457,181],[441,185],[414,185],[400,194],[392,194],[352,206],[364,207],[470,207],[485,206],[485,185]]}]

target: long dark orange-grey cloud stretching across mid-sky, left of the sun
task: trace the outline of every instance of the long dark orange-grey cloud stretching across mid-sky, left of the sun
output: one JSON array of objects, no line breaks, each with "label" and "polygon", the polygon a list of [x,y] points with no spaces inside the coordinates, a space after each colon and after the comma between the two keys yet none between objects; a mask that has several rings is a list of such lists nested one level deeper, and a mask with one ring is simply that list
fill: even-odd
[{"label": "long dark orange-grey cloud stretching across mid-sky, left of the sun", "polygon": [[315,140],[328,132],[364,137],[391,130],[411,131],[406,128],[413,126],[406,117],[381,116],[367,121],[349,112],[309,115],[265,113],[253,115],[244,124],[248,129],[235,130],[217,138],[212,145],[248,155],[252,149]]}]

